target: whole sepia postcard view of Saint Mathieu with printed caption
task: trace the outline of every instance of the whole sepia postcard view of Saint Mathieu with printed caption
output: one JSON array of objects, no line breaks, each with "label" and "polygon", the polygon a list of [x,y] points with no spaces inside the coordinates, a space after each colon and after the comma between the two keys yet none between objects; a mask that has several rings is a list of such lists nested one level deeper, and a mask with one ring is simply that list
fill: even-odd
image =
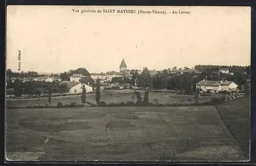
[{"label": "whole sepia postcard view of Saint Mathieu with printed caption", "polygon": [[248,161],[251,8],[7,6],[5,160]]}]

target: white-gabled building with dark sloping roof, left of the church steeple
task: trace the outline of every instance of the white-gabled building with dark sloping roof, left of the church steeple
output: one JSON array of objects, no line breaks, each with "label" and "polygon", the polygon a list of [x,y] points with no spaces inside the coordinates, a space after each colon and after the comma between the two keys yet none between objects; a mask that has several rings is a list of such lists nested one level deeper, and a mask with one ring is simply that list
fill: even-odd
[{"label": "white-gabled building with dark sloping roof, left of the church steeple", "polygon": [[86,85],[82,84],[76,81],[62,81],[59,83],[60,85],[66,84],[69,88],[69,93],[70,94],[79,94],[82,93],[82,86],[84,85],[86,87],[86,93],[91,93],[93,92],[93,88]]}]

